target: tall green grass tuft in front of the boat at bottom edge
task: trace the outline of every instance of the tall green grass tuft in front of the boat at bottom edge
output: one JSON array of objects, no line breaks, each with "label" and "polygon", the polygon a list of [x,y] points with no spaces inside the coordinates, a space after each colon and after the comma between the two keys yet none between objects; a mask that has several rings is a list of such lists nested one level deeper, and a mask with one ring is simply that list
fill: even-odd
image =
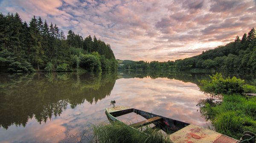
[{"label": "tall green grass tuft in front of the boat at bottom edge", "polygon": [[122,122],[93,125],[91,143],[171,143],[159,129],[140,132]]}]

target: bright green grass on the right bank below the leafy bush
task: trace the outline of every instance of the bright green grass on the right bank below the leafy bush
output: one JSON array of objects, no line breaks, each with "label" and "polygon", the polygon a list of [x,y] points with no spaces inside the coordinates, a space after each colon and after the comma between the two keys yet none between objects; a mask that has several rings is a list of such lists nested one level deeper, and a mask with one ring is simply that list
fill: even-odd
[{"label": "bright green grass on the right bank below the leafy bush", "polygon": [[239,94],[223,95],[218,104],[205,103],[200,107],[217,132],[239,139],[244,131],[256,131],[256,98]]}]

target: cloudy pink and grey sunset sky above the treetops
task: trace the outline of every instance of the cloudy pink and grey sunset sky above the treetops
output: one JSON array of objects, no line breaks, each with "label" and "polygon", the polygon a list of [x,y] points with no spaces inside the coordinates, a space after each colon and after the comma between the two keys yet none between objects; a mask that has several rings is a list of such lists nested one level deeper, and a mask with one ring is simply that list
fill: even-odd
[{"label": "cloudy pink and grey sunset sky above the treetops", "polygon": [[95,35],[134,61],[195,56],[256,27],[256,0],[0,0],[0,12]]}]

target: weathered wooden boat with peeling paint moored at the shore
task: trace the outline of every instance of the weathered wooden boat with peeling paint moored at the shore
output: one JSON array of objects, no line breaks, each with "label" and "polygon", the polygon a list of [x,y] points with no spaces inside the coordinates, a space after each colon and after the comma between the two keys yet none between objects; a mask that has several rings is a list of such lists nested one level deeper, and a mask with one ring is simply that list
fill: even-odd
[{"label": "weathered wooden boat with peeling paint moored at the shore", "polygon": [[116,117],[131,112],[146,118],[145,121],[129,125],[131,128],[136,129],[153,123],[156,127],[166,132],[173,143],[239,143],[239,140],[204,127],[166,118],[139,109],[125,106],[106,108],[106,115],[110,121],[119,121]]}]

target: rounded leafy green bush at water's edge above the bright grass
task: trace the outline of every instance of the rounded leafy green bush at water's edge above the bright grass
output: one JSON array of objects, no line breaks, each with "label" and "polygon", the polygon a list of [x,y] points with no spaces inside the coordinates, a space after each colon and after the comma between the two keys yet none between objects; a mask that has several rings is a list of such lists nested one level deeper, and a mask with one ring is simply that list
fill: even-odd
[{"label": "rounded leafy green bush at water's edge above the bright grass", "polygon": [[233,93],[243,93],[244,80],[237,79],[235,76],[230,79],[227,77],[224,79],[221,73],[216,73],[213,76],[209,76],[210,81],[202,80],[199,88],[202,92],[211,95],[220,94],[233,94]]}]

